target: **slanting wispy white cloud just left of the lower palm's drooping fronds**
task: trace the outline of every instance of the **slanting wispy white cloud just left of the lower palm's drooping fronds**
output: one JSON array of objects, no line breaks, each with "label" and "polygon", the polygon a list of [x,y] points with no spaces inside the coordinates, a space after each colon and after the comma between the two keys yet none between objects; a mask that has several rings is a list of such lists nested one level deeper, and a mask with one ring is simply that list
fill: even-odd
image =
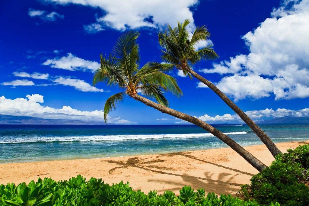
[{"label": "slanting wispy white cloud just left of the lower palm's drooping fronds", "polygon": [[[103,89],[98,89],[96,87],[93,87],[81,79],[71,79],[71,78],[59,77],[57,79],[54,79],[53,82],[57,84],[62,84],[65,86],[74,87],[75,89],[82,91],[82,92],[104,92]],[[109,91],[106,91],[106,92],[109,92]]]}]

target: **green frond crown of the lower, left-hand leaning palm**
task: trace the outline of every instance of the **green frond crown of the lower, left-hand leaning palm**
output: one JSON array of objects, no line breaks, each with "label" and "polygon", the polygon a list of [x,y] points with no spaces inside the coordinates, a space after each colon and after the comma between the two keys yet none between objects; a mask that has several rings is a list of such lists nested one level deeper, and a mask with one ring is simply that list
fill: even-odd
[{"label": "green frond crown of the lower, left-hand leaning palm", "polygon": [[134,97],[141,92],[165,106],[168,106],[168,101],[164,97],[164,91],[170,91],[178,97],[182,95],[176,79],[160,71],[158,65],[149,62],[139,67],[139,45],[136,43],[138,36],[139,32],[127,32],[119,37],[108,57],[100,55],[101,66],[95,71],[93,84],[102,81],[124,89],[123,92],[116,93],[106,100],[105,122],[108,113],[116,109],[116,105],[123,101],[126,95]]}]

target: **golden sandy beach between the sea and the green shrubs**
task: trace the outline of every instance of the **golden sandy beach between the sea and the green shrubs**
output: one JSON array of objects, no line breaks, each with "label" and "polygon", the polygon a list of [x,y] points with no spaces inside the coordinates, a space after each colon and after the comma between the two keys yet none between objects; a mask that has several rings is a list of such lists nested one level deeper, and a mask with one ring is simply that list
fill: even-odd
[{"label": "golden sandy beach between the sea and the green shrubs", "polygon": [[[281,151],[307,142],[279,143]],[[269,165],[274,158],[265,145],[245,147]],[[216,194],[235,194],[258,171],[231,148],[209,149],[169,154],[77,159],[61,161],[0,164],[0,183],[30,182],[39,177],[64,180],[82,174],[87,179],[102,178],[112,184],[130,182],[133,189],[158,193],[172,190],[179,194],[184,185],[205,188]]]}]

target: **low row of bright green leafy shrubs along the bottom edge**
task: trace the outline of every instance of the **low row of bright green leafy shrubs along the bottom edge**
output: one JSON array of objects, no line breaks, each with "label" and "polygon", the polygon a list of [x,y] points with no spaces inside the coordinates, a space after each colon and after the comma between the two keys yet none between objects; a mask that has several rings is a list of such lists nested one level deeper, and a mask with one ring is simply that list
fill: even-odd
[{"label": "low row of bright green leafy shrubs along the bottom edge", "polygon": [[[28,185],[21,183],[0,185],[0,205],[22,206],[95,206],[95,205],[259,205],[255,200],[240,200],[231,195],[221,195],[219,198],[214,193],[205,197],[205,190],[196,192],[191,187],[185,186],[176,196],[172,191],[165,191],[157,195],[157,191],[150,191],[148,195],[138,190],[134,191],[129,183],[108,185],[102,179],[91,178],[86,181],[81,175],[70,178],[69,181],[54,181],[51,178],[31,181]],[[279,204],[271,204],[279,206]]]}]

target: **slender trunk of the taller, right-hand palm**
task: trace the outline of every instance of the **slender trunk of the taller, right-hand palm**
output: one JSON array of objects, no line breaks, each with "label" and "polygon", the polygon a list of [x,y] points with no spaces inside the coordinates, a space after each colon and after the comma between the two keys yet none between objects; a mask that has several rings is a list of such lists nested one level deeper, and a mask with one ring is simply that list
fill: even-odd
[{"label": "slender trunk of the taller, right-hand palm", "polygon": [[273,143],[273,141],[269,138],[269,136],[255,123],[253,120],[248,117],[246,113],[243,112],[233,101],[230,100],[223,92],[221,92],[214,84],[210,81],[197,74],[190,68],[185,68],[190,74],[192,74],[195,78],[200,80],[202,83],[207,85],[210,89],[212,89],[231,109],[235,111],[236,114],[256,133],[256,135],[262,140],[262,142],[269,149],[271,154],[275,157],[278,154],[282,153],[278,147]]}]

